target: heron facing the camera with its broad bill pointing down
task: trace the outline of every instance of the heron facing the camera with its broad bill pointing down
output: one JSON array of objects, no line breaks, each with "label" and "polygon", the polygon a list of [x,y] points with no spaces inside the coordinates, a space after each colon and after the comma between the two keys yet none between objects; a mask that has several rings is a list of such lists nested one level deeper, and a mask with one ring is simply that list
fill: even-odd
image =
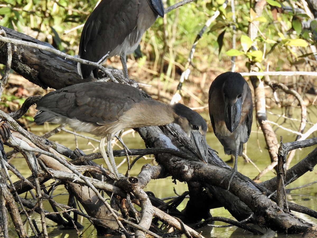
[{"label": "heron facing the camera with its broad bill pointing down", "polygon": [[229,189],[232,178],[237,172],[238,155],[242,155],[243,143],[248,141],[252,126],[252,94],[241,74],[226,72],[211,83],[209,115],[214,133],[223,145],[224,153],[235,156]]}]

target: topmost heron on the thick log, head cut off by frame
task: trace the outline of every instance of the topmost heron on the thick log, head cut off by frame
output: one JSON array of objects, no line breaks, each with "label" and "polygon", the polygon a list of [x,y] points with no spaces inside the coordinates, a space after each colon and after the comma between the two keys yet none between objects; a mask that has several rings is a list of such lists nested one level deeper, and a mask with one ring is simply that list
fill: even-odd
[{"label": "topmost heron on the thick log, head cut off by frame", "polygon": [[[164,16],[162,0],[101,0],[84,25],[78,57],[102,64],[107,57],[120,55],[123,74],[128,78],[126,55],[138,47],[158,16]],[[94,66],[78,63],[77,68],[83,78],[91,71],[98,78]]]}]

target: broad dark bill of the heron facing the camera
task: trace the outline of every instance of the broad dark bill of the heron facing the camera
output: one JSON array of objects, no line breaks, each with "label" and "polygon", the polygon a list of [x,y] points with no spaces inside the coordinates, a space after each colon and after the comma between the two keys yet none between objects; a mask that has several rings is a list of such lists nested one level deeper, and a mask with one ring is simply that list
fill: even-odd
[{"label": "broad dark bill of the heron facing the camera", "polygon": [[228,130],[232,133],[239,125],[241,118],[242,100],[238,98],[236,102],[225,102],[225,122]]}]

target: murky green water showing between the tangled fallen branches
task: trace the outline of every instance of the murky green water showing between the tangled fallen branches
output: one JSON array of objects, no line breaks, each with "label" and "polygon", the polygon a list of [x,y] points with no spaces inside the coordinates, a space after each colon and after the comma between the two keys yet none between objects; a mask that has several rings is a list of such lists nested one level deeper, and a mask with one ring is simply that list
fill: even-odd
[{"label": "murky green water showing between the tangled fallen branches", "polygon": [[[35,132],[36,134],[42,134],[42,131],[48,131],[50,129],[55,128],[55,125],[49,125],[45,124],[43,127],[32,127],[31,130]],[[85,134],[86,136],[91,136],[89,134]],[[283,142],[289,142],[293,141],[295,139],[295,136],[289,134],[288,132],[282,131],[281,129],[277,129],[276,135],[278,137],[280,135],[283,136]],[[99,138],[94,138],[99,140]],[[52,141],[56,141],[58,143],[61,143],[62,145],[70,148],[75,149],[75,136],[68,134],[66,132],[61,132],[55,136],[52,136],[50,138]],[[133,132],[129,133],[125,136],[123,136],[123,140],[126,143],[127,147],[132,148],[145,148],[143,140],[140,138],[138,133]],[[227,161],[230,159],[228,155],[224,155],[223,153],[223,147],[220,144],[220,142],[217,140],[217,138],[214,136],[213,133],[207,134],[207,142],[209,145],[213,145],[213,149],[217,150],[219,153],[219,156],[224,160]],[[90,139],[81,138],[77,136],[77,143],[78,147],[80,149],[83,149],[86,154],[90,154],[93,152],[98,152],[98,144],[99,142],[92,141]],[[118,147],[115,147],[114,149],[119,149]],[[310,148],[304,148],[302,150],[297,150],[295,157],[292,161],[292,165],[299,162],[301,159],[303,159],[310,151],[312,151],[314,147]],[[262,132],[257,130],[256,123],[253,124],[252,133],[249,139],[249,142],[247,143],[247,155],[250,157],[250,159],[256,164],[256,166],[262,170],[264,169],[269,163],[270,159],[267,153],[267,150],[265,148],[265,142],[262,136]],[[122,158],[116,158],[116,163],[119,164],[121,162]],[[95,160],[97,163],[103,163],[104,161],[102,159]],[[25,162],[25,160],[22,158],[14,158],[11,163],[13,163],[16,168],[25,176],[30,175],[29,168]],[[138,175],[140,168],[145,163],[154,163],[153,157],[147,157],[147,158],[141,158],[139,161],[134,165],[133,169],[131,170],[130,175]],[[230,166],[233,166],[232,163],[229,163]],[[254,166],[251,163],[244,162],[242,158],[239,157],[238,159],[238,171],[249,178],[254,178],[258,172],[254,168]],[[120,168],[119,172],[125,173],[126,172],[126,163],[124,163]],[[261,178],[261,181],[265,181],[267,179],[270,179],[274,177],[275,174],[273,172],[268,172],[265,176]],[[12,175],[11,179],[13,181],[16,181],[17,178]],[[287,188],[293,188],[297,186],[301,186],[304,184],[307,184],[309,182],[313,182],[316,180],[316,172],[308,172],[305,175],[301,176],[299,179],[297,179],[295,182],[293,182],[291,185],[289,185]],[[49,182],[47,182],[47,185]],[[177,184],[172,183],[171,178],[165,178],[160,180],[152,180],[149,182],[149,184],[144,189],[145,191],[152,191],[157,197],[163,198],[168,196],[174,196],[173,188],[175,188],[176,192],[178,194],[182,194],[183,192],[187,191],[187,185],[182,182],[177,182]],[[68,196],[66,195],[65,191],[61,186],[58,187],[58,189],[55,191],[55,194],[62,195],[56,196],[55,200],[57,202],[61,202],[66,204]],[[291,193],[288,195],[288,201],[297,203],[299,205],[306,206],[308,208],[311,208],[313,210],[317,209],[317,202],[316,202],[316,195],[317,195],[317,184],[314,184],[309,187],[292,190]],[[178,207],[178,210],[182,210],[186,205],[187,200],[180,204]],[[49,210],[49,204],[44,203],[44,208]],[[227,218],[234,219],[230,213],[224,209],[224,208],[217,208],[212,209],[211,214],[213,216],[223,216]],[[303,214],[295,214],[302,219],[312,222],[314,224],[317,224],[316,219],[308,217],[307,215]],[[36,219],[37,224],[40,223],[40,219],[38,215],[32,215],[32,218]],[[80,217],[81,220],[79,222],[84,225],[85,228],[81,229],[81,232],[83,232],[82,237],[97,237],[96,231],[93,226],[90,226],[89,221],[87,219]],[[221,222],[216,222],[216,225],[223,224]],[[31,234],[31,229],[28,227],[28,223],[26,223],[26,229],[29,231],[29,235]],[[76,231],[75,230],[61,230],[59,227],[55,225],[55,223],[49,221],[47,219],[47,226],[48,226],[48,232],[49,237],[76,237]],[[14,231],[14,227],[11,228],[12,231],[10,232],[10,237],[16,237],[16,233]],[[41,229],[41,228],[40,228]],[[84,232],[85,231],[85,232]],[[244,230],[236,227],[230,227],[230,228],[204,228],[201,229],[202,234],[205,237],[253,237],[252,234],[249,232],[245,232]],[[301,235],[283,235],[283,234],[275,234],[273,231],[266,231],[263,230],[263,233],[265,233],[264,236],[261,237],[301,237]]]}]

